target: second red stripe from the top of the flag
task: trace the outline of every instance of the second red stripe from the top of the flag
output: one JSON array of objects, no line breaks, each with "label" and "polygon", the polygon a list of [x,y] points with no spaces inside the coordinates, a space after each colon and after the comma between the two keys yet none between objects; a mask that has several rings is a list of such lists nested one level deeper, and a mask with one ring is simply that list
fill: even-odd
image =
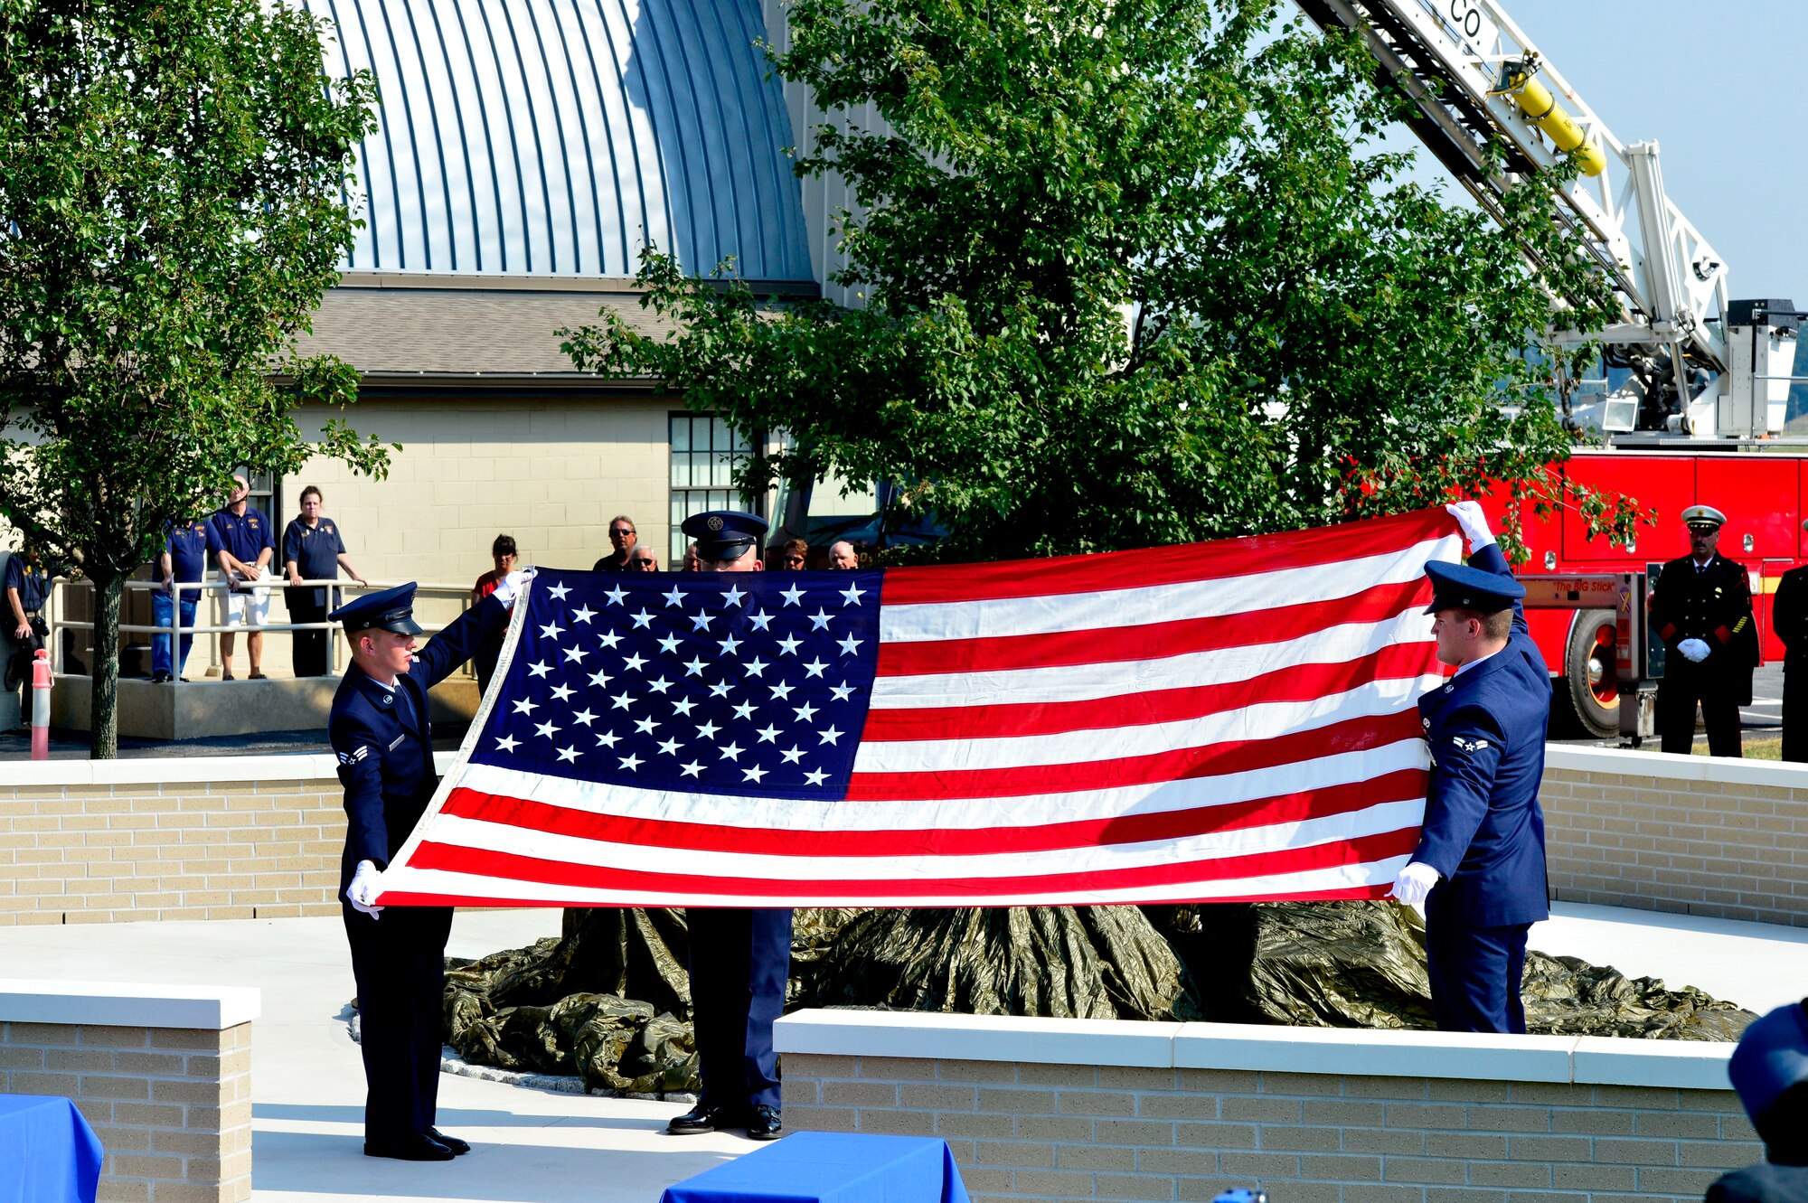
[{"label": "second red stripe from the top of the flag", "polygon": [[1381,623],[1414,607],[1425,607],[1430,598],[1432,583],[1421,576],[1392,585],[1376,585],[1336,602],[1275,605],[1242,614],[1050,634],[880,643],[879,676],[915,677],[938,672],[1065,668],[1211,652],[1251,643],[1285,643],[1318,634],[1327,627]]}]

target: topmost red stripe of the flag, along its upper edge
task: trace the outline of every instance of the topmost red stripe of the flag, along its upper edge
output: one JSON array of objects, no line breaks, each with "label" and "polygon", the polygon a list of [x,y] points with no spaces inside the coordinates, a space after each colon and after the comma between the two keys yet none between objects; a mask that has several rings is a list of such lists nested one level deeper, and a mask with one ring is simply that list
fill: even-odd
[{"label": "topmost red stripe of the flag, along its upper edge", "polygon": [[[1173,585],[1191,580],[1260,578],[1266,573],[1320,564],[1342,564],[1351,547],[1361,555],[1405,551],[1430,538],[1455,533],[1455,520],[1441,509],[1421,509],[1390,518],[1369,518],[1343,526],[1284,535],[1251,535],[1211,544],[1141,547],[1047,560],[1002,560],[949,567],[886,569],[886,605],[922,605],[926,602],[989,602],[998,598],[1040,598],[1059,592],[1099,592]],[[1251,571],[1257,565],[1258,571]]]}]

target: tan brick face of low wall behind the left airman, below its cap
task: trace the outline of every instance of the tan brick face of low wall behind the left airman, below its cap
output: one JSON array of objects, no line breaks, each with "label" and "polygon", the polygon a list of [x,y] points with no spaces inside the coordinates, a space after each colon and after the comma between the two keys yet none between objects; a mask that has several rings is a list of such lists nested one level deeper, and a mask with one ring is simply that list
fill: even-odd
[{"label": "tan brick face of low wall behind the left airman, below its cap", "polygon": [[336,914],[344,844],[333,777],[0,786],[0,925]]}]

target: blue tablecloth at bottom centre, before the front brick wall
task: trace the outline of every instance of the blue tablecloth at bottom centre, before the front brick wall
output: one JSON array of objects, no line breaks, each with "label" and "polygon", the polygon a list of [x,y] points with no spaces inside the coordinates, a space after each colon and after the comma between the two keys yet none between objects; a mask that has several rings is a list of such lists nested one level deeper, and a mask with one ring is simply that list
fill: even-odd
[{"label": "blue tablecloth at bottom centre, before the front brick wall", "polygon": [[967,1189],[946,1140],[794,1133],[669,1187],[660,1203],[967,1203]]}]

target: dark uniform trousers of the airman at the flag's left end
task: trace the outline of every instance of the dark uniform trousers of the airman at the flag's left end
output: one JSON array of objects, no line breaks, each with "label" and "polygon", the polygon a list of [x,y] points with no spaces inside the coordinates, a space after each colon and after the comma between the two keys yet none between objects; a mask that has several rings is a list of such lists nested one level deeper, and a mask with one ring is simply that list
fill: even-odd
[{"label": "dark uniform trousers of the airman at the flag's left end", "polygon": [[363,1140],[400,1143],[434,1127],[452,907],[385,907],[374,918],[342,901],[340,912],[358,981],[358,1051],[369,1084]]}]

